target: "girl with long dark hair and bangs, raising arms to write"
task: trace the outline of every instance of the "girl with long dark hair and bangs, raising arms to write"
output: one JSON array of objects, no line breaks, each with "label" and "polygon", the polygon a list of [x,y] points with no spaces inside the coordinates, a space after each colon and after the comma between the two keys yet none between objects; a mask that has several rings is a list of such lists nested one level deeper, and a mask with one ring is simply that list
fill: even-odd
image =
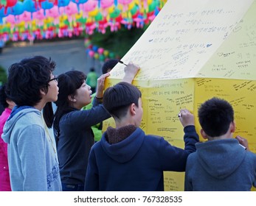
[{"label": "girl with long dark hair and bangs, raising arms to write", "polygon": [[[129,63],[122,81],[132,82],[139,67]],[[86,84],[86,75],[81,71],[68,71],[59,76],[59,94],[55,102],[54,132],[60,162],[63,191],[83,191],[86,168],[94,134],[91,126],[110,118],[103,107],[103,92],[106,73],[97,79],[97,91],[93,107],[81,110],[91,102],[91,87]]]}]

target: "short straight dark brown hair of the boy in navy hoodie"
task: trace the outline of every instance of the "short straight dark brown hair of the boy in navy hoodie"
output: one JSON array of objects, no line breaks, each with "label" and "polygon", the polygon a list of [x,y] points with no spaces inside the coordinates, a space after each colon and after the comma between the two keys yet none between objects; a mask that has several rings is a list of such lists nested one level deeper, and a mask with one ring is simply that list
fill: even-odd
[{"label": "short straight dark brown hair of the boy in navy hoodie", "polygon": [[103,105],[111,116],[122,118],[132,103],[137,107],[139,106],[139,98],[141,97],[142,93],[134,85],[120,82],[105,90]]}]

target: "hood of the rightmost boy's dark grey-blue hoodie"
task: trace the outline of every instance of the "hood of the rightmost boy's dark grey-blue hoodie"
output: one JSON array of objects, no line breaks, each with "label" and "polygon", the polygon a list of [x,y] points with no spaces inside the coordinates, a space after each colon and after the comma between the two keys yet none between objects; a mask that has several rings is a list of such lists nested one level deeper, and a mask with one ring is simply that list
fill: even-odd
[{"label": "hood of the rightmost boy's dark grey-blue hoodie", "polygon": [[232,174],[246,156],[246,150],[235,138],[196,143],[196,153],[205,171],[217,179]]}]

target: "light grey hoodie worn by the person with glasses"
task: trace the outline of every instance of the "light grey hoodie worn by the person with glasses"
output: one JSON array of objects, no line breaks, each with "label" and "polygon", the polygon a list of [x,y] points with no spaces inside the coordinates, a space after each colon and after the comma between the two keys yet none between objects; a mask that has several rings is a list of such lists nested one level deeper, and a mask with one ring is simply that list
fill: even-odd
[{"label": "light grey hoodie worn by the person with glasses", "polygon": [[46,129],[39,110],[13,108],[1,135],[8,143],[12,191],[62,190],[55,140]]}]

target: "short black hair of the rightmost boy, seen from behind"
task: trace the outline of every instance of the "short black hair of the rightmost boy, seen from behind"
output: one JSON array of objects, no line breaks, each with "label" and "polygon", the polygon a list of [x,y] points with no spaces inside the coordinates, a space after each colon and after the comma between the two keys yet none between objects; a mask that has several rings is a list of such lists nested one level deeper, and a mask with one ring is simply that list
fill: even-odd
[{"label": "short black hair of the rightmost boy, seen from behind", "polygon": [[226,100],[213,97],[201,104],[198,118],[207,135],[218,137],[226,134],[230,123],[234,121],[234,110]]}]

